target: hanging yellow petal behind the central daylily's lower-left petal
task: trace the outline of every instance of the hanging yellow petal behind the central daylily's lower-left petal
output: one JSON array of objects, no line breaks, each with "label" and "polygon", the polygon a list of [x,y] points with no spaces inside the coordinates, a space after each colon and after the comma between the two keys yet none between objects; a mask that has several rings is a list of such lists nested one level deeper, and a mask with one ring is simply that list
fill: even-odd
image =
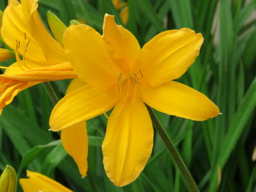
[{"label": "hanging yellow petal behind the central daylily's lower-left petal", "polygon": [[[67,89],[66,94],[77,90],[86,85],[86,83],[78,78],[73,79]],[[73,157],[79,171],[83,177],[87,172],[87,156],[88,156],[88,136],[86,130],[86,121],[81,121],[75,125],[67,127],[61,131],[61,142],[67,153]]]}]

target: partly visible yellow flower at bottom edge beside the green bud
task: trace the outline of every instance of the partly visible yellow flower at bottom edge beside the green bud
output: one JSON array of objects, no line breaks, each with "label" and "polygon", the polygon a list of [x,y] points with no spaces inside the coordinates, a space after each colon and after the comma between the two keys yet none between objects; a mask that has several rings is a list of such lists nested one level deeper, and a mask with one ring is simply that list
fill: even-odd
[{"label": "partly visible yellow flower at bottom edge beside the green bud", "polygon": [[53,179],[37,172],[27,171],[28,179],[19,179],[24,192],[72,192]]}]

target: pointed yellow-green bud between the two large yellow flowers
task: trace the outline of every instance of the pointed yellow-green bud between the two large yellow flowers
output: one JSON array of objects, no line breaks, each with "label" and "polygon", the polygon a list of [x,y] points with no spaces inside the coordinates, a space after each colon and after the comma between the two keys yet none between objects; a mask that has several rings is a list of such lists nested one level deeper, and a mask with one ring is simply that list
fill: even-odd
[{"label": "pointed yellow-green bud between the two large yellow flowers", "polygon": [[65,29],[67,29],[66,25],[64,25],[64,23],[62,23],[62,21],[50,11],[47,12],[47,18],[51,32],[53,32],[54,37],[61,46],[64,47],[62,41]]}]

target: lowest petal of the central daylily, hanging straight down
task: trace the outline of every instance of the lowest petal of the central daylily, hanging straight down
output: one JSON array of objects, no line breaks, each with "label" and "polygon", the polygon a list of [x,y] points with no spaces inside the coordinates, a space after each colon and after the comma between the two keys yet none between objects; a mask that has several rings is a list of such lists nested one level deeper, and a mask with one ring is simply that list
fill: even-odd
[{"label": "lowest petal of the central daylily, hanging straight down", "polygon": [[154,132],[146,106],[134,94],[123,106],[118,103],[110,118],[116,115],[116,119],[107,122],[103,164],[114,185],[125,186],[144,169],[152,151]]}]

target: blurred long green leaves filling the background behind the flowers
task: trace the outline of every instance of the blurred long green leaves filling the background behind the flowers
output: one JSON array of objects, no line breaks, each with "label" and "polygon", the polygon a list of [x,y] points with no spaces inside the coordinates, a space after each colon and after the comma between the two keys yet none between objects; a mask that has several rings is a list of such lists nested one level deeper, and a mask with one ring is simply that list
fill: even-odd
[{"label": "blurred long green leaves filling the background behind the flowers", "polygon": [[[122,1],[121,1],[122,2]],[[207,95],[222,115],[195,122],[156,111],[169,137],[191,171],[201,191],[256,191],[256,1],[249,0],[128,0],[131,31],[141,46],[156,34],[189,27],[202,33],[200,55],[178,79]],[[0,9],[7,6],[0,1]],[[115,15],[111,0],[39,0],[39,13],[49,29],[47,11],[69,26],[83,19],[102,34],[105,13]],[[248,19],[250,17],[250,19]],[[14,60],[1,63],[9,66]],[[2,71],[3,72],[3,71]],[[59,98],[70,80],[50,82]],[[72,107],[72,106],[70,106]],[[8,164],[18,178],[25,170],[41,172],[73,191],[187,191],[161,138],[154,131],[152,155],[140,176],[130,185],[115,187],[107,178],[101,144],[107,119],[87,121],[90,174],[81,179],[77,165],[67,155],[59,134],[48,131],[52,103],[42,84],[22,91],[0,116],[0,172]],[[217,169],[221,182],[217,183]],[[96,188],[92,186],[95,182]],[[17,191],[22,191],[18,185]]]}]

